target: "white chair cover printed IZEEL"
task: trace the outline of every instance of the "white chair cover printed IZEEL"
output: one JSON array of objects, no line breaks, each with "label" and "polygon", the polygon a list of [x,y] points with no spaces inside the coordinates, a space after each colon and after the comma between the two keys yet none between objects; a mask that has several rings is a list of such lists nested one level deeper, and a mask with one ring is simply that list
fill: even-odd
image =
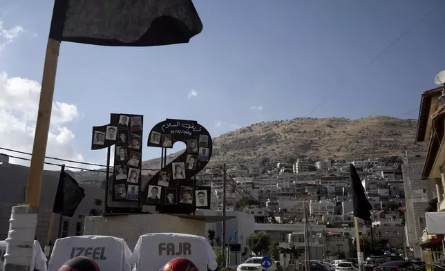
[{"label": "white chair cover printed IZEEL", "polygon": [[93,259],[100,270],[131,271],[131,250],[124,239],[100,235],[57,239],[48,263],[48,271],[58,271],[66,261],[76,256]]}]

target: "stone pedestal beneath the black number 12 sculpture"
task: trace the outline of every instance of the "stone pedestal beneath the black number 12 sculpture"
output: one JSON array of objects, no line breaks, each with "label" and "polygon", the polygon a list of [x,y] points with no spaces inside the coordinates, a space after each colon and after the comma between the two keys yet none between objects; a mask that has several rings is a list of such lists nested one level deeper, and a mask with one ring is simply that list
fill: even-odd
[{"label": "stone pedestal beneath the black number 12 sculpture", "polygon": [[[192,217],[192,216],[190,216]],[[167,214],[130,214],[122,216],[87,216],[84,235],[122,238],[133,250],[139,236],[156,232],[175,232],[206,236],[205,220]]]}]

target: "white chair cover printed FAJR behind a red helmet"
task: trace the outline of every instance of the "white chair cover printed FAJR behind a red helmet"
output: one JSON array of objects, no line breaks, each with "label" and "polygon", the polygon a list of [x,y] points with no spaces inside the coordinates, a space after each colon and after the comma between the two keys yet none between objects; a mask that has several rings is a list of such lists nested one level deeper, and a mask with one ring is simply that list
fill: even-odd
[{"label": "white chair cover printed FAJR behind a red helmet", "polygon": [[139,237],[131,262],[136,271],[159,271],[175,258],[191,260],[199,271],[216,270],[216,254],[209,241],[191,234],[158,233]]}]

